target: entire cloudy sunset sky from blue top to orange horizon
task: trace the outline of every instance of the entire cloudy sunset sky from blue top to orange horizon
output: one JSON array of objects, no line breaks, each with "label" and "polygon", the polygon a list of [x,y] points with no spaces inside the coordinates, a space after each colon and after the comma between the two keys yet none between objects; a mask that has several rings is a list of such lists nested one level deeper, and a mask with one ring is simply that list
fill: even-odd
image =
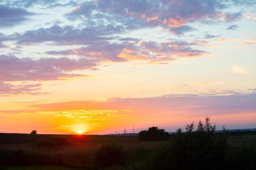
[{"label": "entire cloudy sunset sky from blue top to orange horizon", "polygon": [[0,0],[0,132],[256,128],[255,0]]}]

